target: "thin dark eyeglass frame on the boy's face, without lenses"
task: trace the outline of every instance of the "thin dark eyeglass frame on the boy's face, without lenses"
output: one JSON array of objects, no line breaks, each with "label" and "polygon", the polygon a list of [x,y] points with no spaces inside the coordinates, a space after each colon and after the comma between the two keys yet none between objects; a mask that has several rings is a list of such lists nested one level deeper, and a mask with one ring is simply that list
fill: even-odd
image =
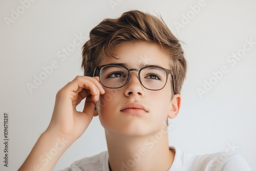
[{"label": "thin dark eyeglass frame on the boy's face, without lenses", "polygon": [[[158,67],[158,66],[147,66],[147,67],[143,67],[143,68],[141,68],[141,69],[136,69],[136,68],[128,69],[128,68],[124,67],[123,65],[118,65],[118,64],[117,64],[117,65],[113,65],[113,64],[110,64],[110,65],[109,65],[109,64],[108,64],[108,65],[102,65],[102,66],[96,67],[96,68],[94,69],[93,76],[95,76],[95,75],[96,75],[96,71],[98,71],[99,80],[100,80],[100,82],[101,82],[100,74],[99,74],[99,73],[100,73],[100,71],[101,71],[104,67],[109,67],[109,66],[123,67],[123,68],[125,68],[125,69],[127,70],[127,72],[128,72],[128,78],[127,78],[126,82],[123,84],[123,86],[125,86],[125,84],[126,84],[127,82],[129,82],[129,80],[130,80],[130,71],[137,71],[137,72],[138,72],[138,76],[139,76],[140,84],[141,84],[145,89],[147,89],[147,90],[152,90],[152,89],[146,88],[146,87],[143,85],[143,83],[141,82],[141,79],[140,79],[140,72],[141,72],[141,70],[143,70],[143,69],[145,69],[145,68],[152,68],[152,67],[154,67],[154,68],[160,68],[160,69],[164,70],[165,73],[166,73],[166,81],[165,81],[165,83],[164,83],[164,86],[163,86],[161,89],[163,89],[163,88],[165,87],[166,82],[167,82],[167,79],[168,79],[168,75],[170,74],[170,75],[172,76],[172,78],[173,78],[173,89],[174,89],[174,94],[175,94],[175,79],[174,79],[174,74],[173,74],[173,71],[172,71],[172,70],[168,70],[168,69],[166,69],[166,68],[162,68],[162,67]],[[105,88],[109,88],[109,89],[118,89],[118,88],[123,87],[123,86],[120,86],[120,87],[117,87],[117,88],[112,88],[112,87],[106,87],[102,82],[101,82],[101,84],[102,84],[102,86],[104,86]],[[157,89],[157,90],[161,90],[161,89]],[[152,90],[152,91],[157,91],[157,90]]]}]

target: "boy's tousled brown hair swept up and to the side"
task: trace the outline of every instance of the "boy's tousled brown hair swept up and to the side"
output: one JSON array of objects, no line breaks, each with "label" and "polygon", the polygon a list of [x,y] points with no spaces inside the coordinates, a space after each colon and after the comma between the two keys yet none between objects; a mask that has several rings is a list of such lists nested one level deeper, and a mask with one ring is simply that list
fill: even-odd
[{"label": "boy's tousled brown hair swept up and to the side", "polygon": [[93,28],[90,39],[82,47],[84,75],[93,76],[104,56],[123,42],[144,41],[158,45],[169,54],[175,78],[175,93],[180,94],[186,75],[186,59],[179,40],[170,32],[162,18],[138,10],[127,11],[119,18],[106,18]]}]

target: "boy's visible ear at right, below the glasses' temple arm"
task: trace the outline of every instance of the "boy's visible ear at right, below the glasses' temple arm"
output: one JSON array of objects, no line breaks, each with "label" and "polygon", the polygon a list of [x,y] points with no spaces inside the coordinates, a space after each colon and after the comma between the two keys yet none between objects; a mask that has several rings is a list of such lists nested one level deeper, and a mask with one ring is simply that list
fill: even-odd
[{"label": "boy's visible ear at right, below the glasses' temple arm", "polygon": [[180,111],[180,104],[181,104],[181,95],[175,94],[173,99],[170,101],[168,118],[174,119],[178,115]]}]

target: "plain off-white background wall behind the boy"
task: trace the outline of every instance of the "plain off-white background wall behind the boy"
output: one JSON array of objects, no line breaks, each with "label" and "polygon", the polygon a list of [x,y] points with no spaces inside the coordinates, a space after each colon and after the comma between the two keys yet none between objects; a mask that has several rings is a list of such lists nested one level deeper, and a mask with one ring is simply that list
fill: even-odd
[{"label": "plain off-white background wall behind the boy", "polygon": [[[21,3],[0,1],[0,169],[18,169],[49,124],[56,92],[76,75],[82,75],[82,44],[63,61],[57,53],[71,46],[75,35],[86,37],[84,42],[88,40],[90,30],[103,18],[116,18],[127,10],[139,9],[161,14],[170,30],[184,42],[188,71],[181,111],[170,121],[170,145],[185,152],[206,154],[225,152],[228,143],[234,144],[238,146],[235,153],[256,170],[256,45],[235,65],[227,61],[232,53],[242,52],[245,39],[256,42],[256,2],[205,0],[205,6],[193,16],[190,6],[198,5],[198,0],[113,1],[119,3],[112,8],[109,0],[37,0],[9,24],[4,18],[11,18]],[[184,24],[182,17],[187,14],[189,23]],[[184,27],[178,29],[175,22],[182,24],[182,21]],[[34,75],[39,76],[44,72],[42,67],[54,60],[58,67],[30,93],[27,83],[33,83]],[[197,89],[203,89],[204,80],[214,80],[212,72],[220,71],[223,66],[228,72],[200,97]],[[4,112],[9,113],[8,168],[2,161]],[[96,117],[54,170],[104,150],[104,130]]]}]

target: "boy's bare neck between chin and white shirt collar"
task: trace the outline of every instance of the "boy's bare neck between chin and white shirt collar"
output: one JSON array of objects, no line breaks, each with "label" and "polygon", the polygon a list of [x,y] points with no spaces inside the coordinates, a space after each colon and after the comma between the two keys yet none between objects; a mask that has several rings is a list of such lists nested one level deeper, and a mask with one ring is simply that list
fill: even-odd
[{"label": "boy's bare neck between chin and white shirt collar", "polygon": [[124,136],[106,131],[112,170],[168,170],[175,152],[170,151],[167,134]]}]

